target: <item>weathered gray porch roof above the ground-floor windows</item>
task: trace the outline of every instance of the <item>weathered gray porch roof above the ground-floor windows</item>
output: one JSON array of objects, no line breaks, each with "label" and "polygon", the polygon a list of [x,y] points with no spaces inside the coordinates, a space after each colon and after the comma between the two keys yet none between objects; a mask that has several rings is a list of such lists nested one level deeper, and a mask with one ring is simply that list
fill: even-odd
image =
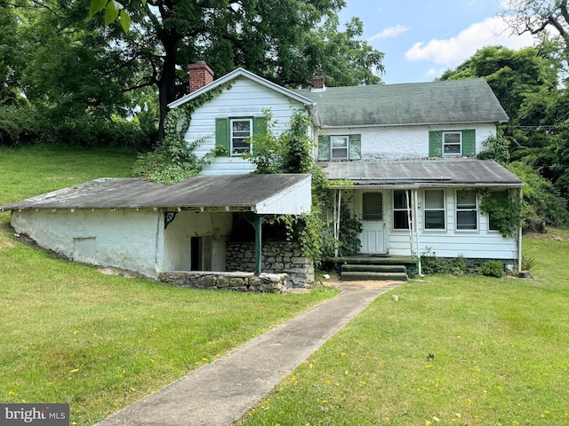
[{"label": "weathered gray porch roof above the ground-floor windows", "polygon": [[327,162],[328,179],[349,179],[355,185],[521,186],[522,181],[492,160],[473,158],[393,162]]}]

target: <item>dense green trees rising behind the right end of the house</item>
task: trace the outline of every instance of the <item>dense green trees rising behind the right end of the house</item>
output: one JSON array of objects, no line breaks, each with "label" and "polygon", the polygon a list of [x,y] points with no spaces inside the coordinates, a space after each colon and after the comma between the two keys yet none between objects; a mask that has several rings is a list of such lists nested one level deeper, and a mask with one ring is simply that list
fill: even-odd
[{"label": "dense green trees rising behind the right end of the house", "polygon": [[[489,46],[442,80],[484,77],[510,122],[493,143],[509,146],[509,168],[525,181],[526,225],[564,225],[569,220],[569,102],[558,87],[558,61],[548,43],[519,51]],[[495,152],[503,152],[500,147]]]}]

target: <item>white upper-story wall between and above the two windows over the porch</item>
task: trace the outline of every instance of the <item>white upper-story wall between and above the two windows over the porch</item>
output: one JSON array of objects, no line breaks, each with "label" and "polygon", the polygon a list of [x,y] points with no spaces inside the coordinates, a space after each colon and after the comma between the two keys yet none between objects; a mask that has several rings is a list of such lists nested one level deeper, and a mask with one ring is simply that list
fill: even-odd
[{"label": "white upper-story wall between and above the two windows over the porch", "polygon": [[362,159],[405,160],[429,157],[429,130],[476,130],[477,153],[484,150],[482,142],[495,135],[496,126],[465,124],[445,126],[399,126],[379,128],[346,128],[319,130],[318,135],[362,135]]}]

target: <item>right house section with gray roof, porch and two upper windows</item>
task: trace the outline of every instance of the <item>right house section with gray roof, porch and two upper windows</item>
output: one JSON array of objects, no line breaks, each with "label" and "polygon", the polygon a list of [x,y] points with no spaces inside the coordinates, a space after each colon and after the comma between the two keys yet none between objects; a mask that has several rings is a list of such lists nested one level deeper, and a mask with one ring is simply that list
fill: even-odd
[{"label": "right house section with gray roof, porch and two upper windows", "polygon": [[[465,256],[518,264],[483,194],[520,197],[519,178],[476,158],[508,115],[484,79],[296,91],[314,100],[317,159],[362,223],[361,253]],[[339,202],[338,208],[340,208]],[[337,216],[337,215],[336,215]]]}]

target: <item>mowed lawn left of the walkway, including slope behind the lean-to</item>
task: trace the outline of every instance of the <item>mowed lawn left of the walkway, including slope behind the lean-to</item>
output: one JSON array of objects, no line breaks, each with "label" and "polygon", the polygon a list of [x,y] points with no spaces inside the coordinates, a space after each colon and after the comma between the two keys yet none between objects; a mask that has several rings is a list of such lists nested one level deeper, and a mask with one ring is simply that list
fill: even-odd
[{"label": "mowed lawn left of the walkway, including slope behind the lean-to", "polygon": [[[136,154],[0,148],[0,205],[97,177]],[[253,295],[103,275],[25,245],[0,213],[0,402],[69,403],[91,425],[335,294]]]}]

